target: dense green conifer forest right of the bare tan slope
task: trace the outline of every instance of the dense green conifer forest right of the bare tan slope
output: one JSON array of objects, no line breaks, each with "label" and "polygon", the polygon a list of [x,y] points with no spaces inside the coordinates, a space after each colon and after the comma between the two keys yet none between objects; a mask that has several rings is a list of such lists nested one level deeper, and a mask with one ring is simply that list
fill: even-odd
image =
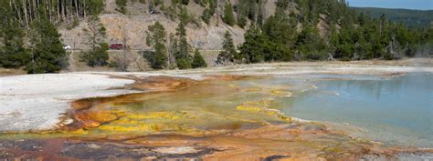
[{"label": "dense green conifer forest right of the bare tan slope", "polygon": [[[385,15],[372,18],[363,13],[358,14],[344,0],[295,2],[279,0],[274,15],[270,15],[263,24],[250,24],[244,35],[245,42],[238,45],[239,52],[235,52],[234,45],[227,45],[232,44],[227,33],[223,52],[218,55],[216,63],[389,60],[420,53],[433,55],[433,26],[409,29],[402,23],[388,21]],[[228,11],[231,10],[229,7],[227,5]],[[290,12],[290,7],[291,10],[296,8],[299,13]],[[233,15],[224,16],[224,19],[229,19],[224,21],[227,25],[234,25]],[[239,15],[237,21],[239,26],[245,25]]]}]

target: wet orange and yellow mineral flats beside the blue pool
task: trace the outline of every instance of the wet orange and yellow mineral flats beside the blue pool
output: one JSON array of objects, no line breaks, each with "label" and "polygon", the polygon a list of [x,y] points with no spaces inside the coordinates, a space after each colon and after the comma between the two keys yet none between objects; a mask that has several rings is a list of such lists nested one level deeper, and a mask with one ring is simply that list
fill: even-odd
[{"label": "wet orange and yellow mineral flats beside the blue pool", "polygon": [[142,93],[79,99],[50,131],[0,136],[0,157],[37,160],[394,160],[431,149],[381,146],[299,121],[279,98],[314,86],[269,85],[271,76],[204,80],[123,75]]}]

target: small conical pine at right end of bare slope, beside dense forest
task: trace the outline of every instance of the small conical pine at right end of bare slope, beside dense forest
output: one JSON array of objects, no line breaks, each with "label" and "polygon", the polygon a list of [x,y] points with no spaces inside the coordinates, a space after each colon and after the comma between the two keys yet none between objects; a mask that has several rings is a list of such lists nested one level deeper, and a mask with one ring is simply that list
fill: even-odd
[{"label": "small conical pine at right end of bare slope, beside dense forest", "polygon": [[223,50],[219,53],[216,59],[217,65],[227,65],[232,64],[235,61],[235,56],[238,55],[236,52],[235,44],[233,43],[233,38],[230,33],[226,31],[224,34]]}]

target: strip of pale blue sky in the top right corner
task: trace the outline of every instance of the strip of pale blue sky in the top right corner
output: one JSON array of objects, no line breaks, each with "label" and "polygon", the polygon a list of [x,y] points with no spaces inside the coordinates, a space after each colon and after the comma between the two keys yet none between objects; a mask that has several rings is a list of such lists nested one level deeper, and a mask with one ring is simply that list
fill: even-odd
[{"label": "strip of pale blue sky in the top right corner", "polygon": [[350,6],[433,10],[433,0],[346,0]]}]

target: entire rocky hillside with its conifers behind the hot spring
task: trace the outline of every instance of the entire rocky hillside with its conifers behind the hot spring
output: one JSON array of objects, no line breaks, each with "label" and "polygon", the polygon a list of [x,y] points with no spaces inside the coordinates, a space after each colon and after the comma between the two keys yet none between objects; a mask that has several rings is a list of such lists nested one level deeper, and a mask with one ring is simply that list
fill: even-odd
[{"label": "entire rocky hillside with its conifers behind the hot spring", "polygon": [[[126,60],[131,53],[155,69],[204,67],[204,59],[234,65],[433,55],[433,25],[407,28],[359,14],[345,0],[0,2],[0,65],[28,73],[68,66],[64,44],[82,54],[76,60],[121,71],[139,62]],[[112,59],[107,50],[117,43],[127,50]],[[219,55],[203,58],[199,50]]]}]

